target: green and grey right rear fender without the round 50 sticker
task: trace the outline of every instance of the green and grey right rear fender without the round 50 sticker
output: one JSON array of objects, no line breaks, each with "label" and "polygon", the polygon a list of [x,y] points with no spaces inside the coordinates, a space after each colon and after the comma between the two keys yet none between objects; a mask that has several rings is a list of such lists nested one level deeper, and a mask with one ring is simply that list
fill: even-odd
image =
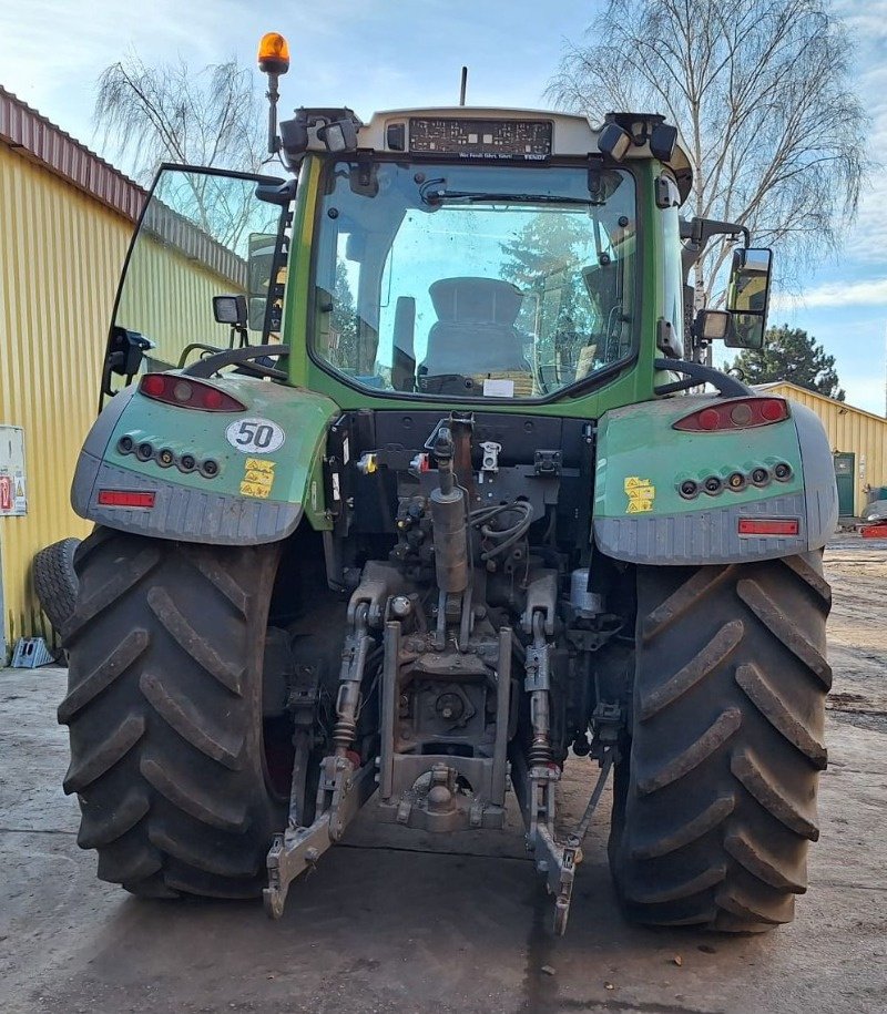
[{"label": "green and grey right rear fender without the round 50 sticker", "polygon": [[[825,545],[837,523],[837,490],[818,418],[789,402],[789,418],[766,426],[712,432],[673,429],[685,416],[725,401],[681,396],[601,417],[593,537],[602,553],[652,565],[715,564],[769,560]],[[779,474],[786,473],[782,480],[777,465]],[[756,470],[767,475],[759,484],[752,481]],[[733,489],[728,480],[736,474],[744,481]],[[712,478],[720,488],[710,493],[705,482]],[[686,482],[695,483],[699,492],[682,495]],[[744,533],[759,528],[754,522],[785,522],[767,525],[784,531]]]}]

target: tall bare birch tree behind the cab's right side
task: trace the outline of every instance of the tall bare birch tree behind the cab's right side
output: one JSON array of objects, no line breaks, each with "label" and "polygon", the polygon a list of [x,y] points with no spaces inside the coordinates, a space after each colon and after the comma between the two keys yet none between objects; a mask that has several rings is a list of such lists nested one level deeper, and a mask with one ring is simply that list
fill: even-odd
[{"label": "tall bare birch tree behind the cab's right side", "polygon": [[[747,226],[793,280],[842,244],[866,173],[866,117],[847,33],[823,0],[610,0],[570,44],[549,92],[600,120],[659,112],[693,167],[689,215]],[[716,288],[715,242],[696,289]]]}]

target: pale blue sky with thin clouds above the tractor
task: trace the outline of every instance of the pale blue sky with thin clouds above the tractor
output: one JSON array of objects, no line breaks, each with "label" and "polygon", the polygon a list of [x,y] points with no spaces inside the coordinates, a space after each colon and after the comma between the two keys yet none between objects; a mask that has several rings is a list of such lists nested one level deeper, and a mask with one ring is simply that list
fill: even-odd
[{"label": "pale blue sky with thin clouds above the tractor", "polygon": [[[293,55],[283,110],[343,104],[368,115],[450,104],[462,63],[471,69],[469,104],[534,107],[543,104],[564,40],[579,38],[600,7],[601,0],[2,0],[0,83],[99,146],[95,78],[128,48],[147,63],[181,54],[198,69],[236,53],[251,65],[263,32],[282,31]],[[854,82],[871,116],[860,143],[887,166],[887,0],[833,7],[854,33]],[[812,332],[836,356],[847,400],[884,414],[887,171],[873,174],[843,252],[810,273],[798,298],[777,298],[771,320]]]}]

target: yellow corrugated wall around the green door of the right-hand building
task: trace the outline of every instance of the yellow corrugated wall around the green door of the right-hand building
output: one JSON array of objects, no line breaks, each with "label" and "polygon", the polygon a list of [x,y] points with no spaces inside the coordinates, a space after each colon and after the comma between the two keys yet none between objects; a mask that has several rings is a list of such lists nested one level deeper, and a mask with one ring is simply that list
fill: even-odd
[{"label": "yellow corrugated wall around the green door of the right-hand building", "polygon": [[856,454],[854,492],[858,516],[866,504],[866,484],[887,485],[887,419],[814,395],[813,391],[792,383],[768,387],[767,392],[782,395],[812,409],[823,421],[832,450]]}]

